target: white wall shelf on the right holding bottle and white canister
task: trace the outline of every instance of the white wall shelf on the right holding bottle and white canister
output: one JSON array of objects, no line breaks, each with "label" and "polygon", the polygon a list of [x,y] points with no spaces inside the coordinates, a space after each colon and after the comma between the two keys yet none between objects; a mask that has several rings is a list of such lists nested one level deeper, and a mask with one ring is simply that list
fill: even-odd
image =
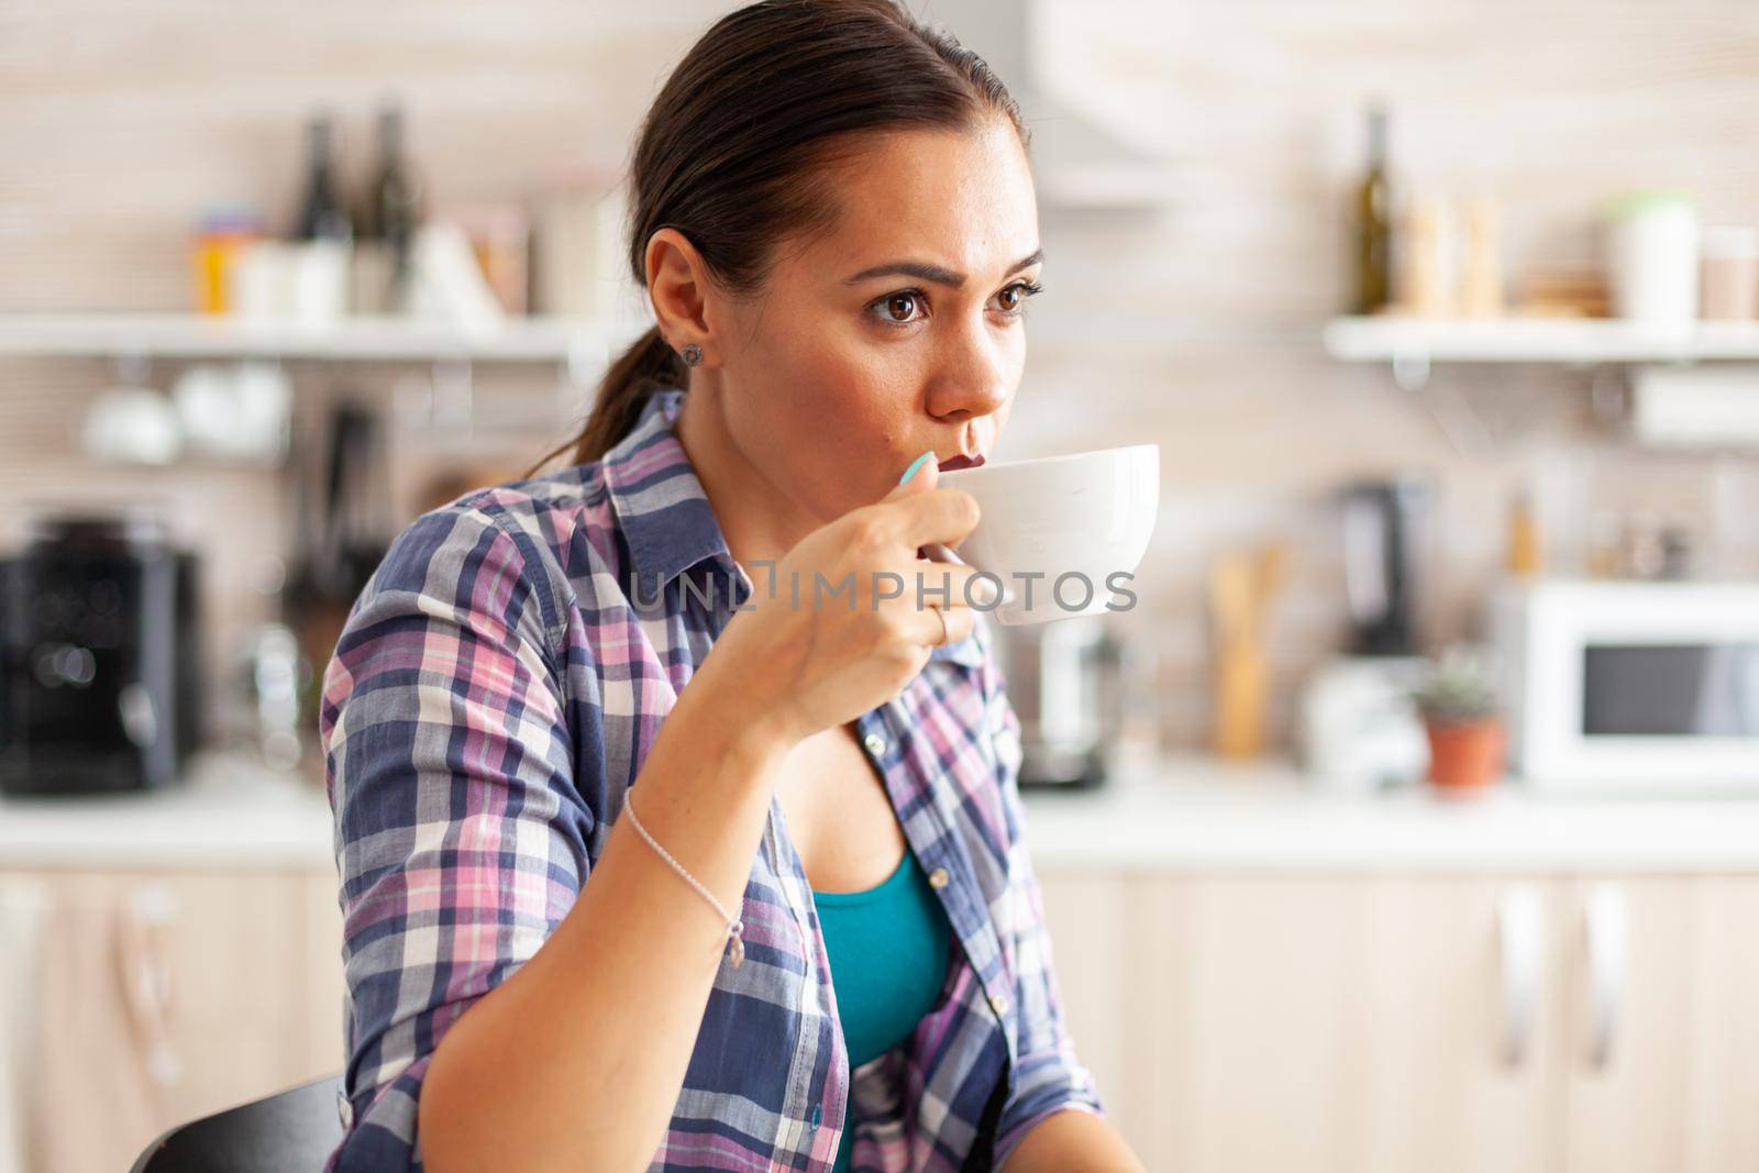
[{"label": "white wall shelf on the right holding bottle and white canister", "polygon": [[1344,317],[1325,325],[1344,362],[1697,362],[1759,361],[1759,322],[1660,329],[1620,318]]}]

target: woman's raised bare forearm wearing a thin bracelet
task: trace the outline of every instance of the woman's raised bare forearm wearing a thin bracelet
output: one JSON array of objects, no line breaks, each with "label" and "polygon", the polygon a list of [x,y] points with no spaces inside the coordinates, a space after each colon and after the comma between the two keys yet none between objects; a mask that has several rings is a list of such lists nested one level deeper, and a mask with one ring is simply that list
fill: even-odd
[{"label": "woman's raised bare forearm wearing a thin bracelet", "polygon": [[[734,916],[792,733],[711,654],[631,790],[642,825]],[[619,818],[542,948],[443,1036],[420,1092],[429,1169],[644,1169],[695,1048],[726,923]]]}]

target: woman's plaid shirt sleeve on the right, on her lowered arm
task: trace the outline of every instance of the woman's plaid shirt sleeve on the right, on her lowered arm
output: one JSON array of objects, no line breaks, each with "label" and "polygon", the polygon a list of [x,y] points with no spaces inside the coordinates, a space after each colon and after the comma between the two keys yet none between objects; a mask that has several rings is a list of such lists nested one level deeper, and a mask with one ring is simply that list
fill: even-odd
[{"label": "woman's plaid shirt sleeve on the right, on her lowered arm", "polygon": [[997,674],[987,670],[985,675],[992,681],[985,709],[996,740],[1003,811],[1011,832],[1008,895],[1013,916],[1008,948],[1013,953],[1013,1002],[1018,1022],[1013,1089],[996,1129],[994,1166],[1001,1168],[1040,1120],[1064,1110],[1105,1117],[1105,1106],[1092,1076],[1075,1055],[1075,1041],[1062,1020],[1062,997],[1052,962],[1050,932],[1045,927],[1045,906],[1025,849],[1025,811],[1018,791],[1020,719],[1008,703],[1008,693]]}]

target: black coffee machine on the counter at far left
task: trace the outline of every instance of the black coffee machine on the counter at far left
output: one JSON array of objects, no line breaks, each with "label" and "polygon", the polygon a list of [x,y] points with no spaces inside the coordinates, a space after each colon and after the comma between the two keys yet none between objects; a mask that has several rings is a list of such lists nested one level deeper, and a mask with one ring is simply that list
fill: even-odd
[{"label": "black coffee machine on the counter at far left", "polygon": [[141,515],[47,515],[0,561],[0,791],[178,779],[201,740],[197,579]]}]

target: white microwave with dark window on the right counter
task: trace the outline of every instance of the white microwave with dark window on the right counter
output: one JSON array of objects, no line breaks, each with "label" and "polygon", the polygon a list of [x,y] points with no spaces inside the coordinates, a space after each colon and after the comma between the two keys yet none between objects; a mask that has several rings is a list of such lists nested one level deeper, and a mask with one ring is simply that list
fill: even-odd
[{"label": "white microwave with dark window on the right counter", "polygon": [[1488,619],[1536,790],[1759,793],[1759,582],[1509,582]]}]

